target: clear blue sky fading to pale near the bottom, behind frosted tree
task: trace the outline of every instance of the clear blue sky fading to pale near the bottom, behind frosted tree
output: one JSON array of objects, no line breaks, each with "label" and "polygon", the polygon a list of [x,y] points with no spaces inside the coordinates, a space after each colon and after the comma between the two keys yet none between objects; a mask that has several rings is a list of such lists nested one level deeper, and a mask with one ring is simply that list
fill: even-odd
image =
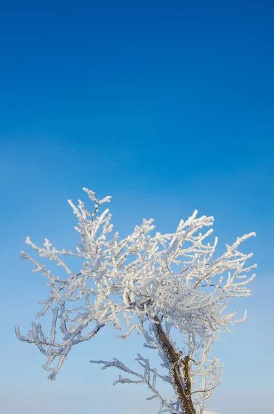
[{"label": "clear blue sky fading to pale near the bottom, behind frosted tree", "polygon": [[131,364],[148,355],[139,336],[124,344],[102,332],[70,353],[55,382],[37,348],[14,336],[15,324],[28,333],[48,294],[19,259],[24,239],[73,248],[66,200],[86,200],[83,186],[113,196],[122,236],[144,217],[172,231],[195,208],[215,216],[219,252],[257,233],[242,247],[258,264],[253,297],[233,302],[248,318],[215,346],[224,380],[208,407],[271,411],[273,19],[264,0],[0,2],[3,412],[157,412],[145,387],[113,387],[114,368],[88,363]]}]

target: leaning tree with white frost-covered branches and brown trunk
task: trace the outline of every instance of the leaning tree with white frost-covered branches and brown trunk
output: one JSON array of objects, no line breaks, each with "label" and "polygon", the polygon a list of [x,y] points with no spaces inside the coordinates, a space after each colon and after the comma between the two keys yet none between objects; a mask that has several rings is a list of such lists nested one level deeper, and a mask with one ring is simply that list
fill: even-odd
[{"label": "leaning tree with white frost-covered branches and brown trunk", "polygon": [[[95,193],[84,190],[95,203],[93,213],[88,212],[82,201],[78,207],[68,201],[79,220],[75,229],[80,242],[75,251],[57,250],[48,239],[40,248],[29,237],[26,239],[26,244],[40,257],[56,262],[68,277],[61,279],[22,252],[23,259],[34,264],[32,271],[48,277],[51,288],[48,299],[39,302],[44,306],[36,317],[42,317],[50,308],[53,317],[50,337],[35,322],[28,337],[22,337],[16,326],[17,337],[37,345],[48,358],[43,368],[50,371],[50,380],[55,380],[72,346],[88,341],[108,324],[122,330],[124,321],[128,329],[117,336],[126,340],[133,331],[144,335],[144,346],[157,350],[166,375],[160,375],[139,354],[137,362],[144,368],[142,373],[132,371],[115,358],[112,362],[91,362],[103,364],[102,369],[115,366],[137,377],[134,380],[119,375],[115,384],[147,384],[152,392],[148,400],[159,399],[159,413],[204,413],[204,401],[222,380],[222,365],[209,355],[218,340],[217,334],[229,331],[228,326],[246,317],[235,320],[235,313],[225,310],[230,297],[251,295],[246,285],[255,275],[248,278],[246,273],[255,265],[246,266],[252,254],[240,253],[238,247],[255,233],[237,238],[232,246],[226,245],[222,256],[213,258],[217,238],[213,244],[205,242],[213,231],[210,228],[213,217],[197,218],[195,210],[186,221],[179,222],[175,233],[152,233],[153,219],[144,219],[131,235],[119,240],[118,233],[110,235],[108,209],[99,215],[99,206],[111,197],[99,200]],[[208,227],[209,230],[199,233]],[[73,273],[64,262],[66,256],[79,259],[78,273]],[[81,306],[66,307],[68,302],[77,300],[82,302]],[[63,336],[61,342],[55,339],[57,321]],[[172,337],[174,331],[182,335],[179,348]],[[55,360],[57,364],[52,367]],[[175,396],[170,402],[157,391],[157,379],[173,386]]]}]

